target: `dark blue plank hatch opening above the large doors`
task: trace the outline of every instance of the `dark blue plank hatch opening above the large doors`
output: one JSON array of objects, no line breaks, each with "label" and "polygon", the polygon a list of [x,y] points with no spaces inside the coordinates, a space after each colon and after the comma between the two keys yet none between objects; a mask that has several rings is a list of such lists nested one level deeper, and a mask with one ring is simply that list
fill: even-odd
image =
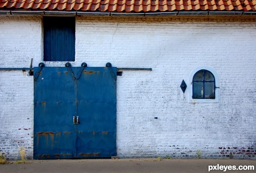
[{"label": "dark blue plank hatch opening above the large doors", "polygon": [[75,61],[75,17],[43,17],[44,61]]}]

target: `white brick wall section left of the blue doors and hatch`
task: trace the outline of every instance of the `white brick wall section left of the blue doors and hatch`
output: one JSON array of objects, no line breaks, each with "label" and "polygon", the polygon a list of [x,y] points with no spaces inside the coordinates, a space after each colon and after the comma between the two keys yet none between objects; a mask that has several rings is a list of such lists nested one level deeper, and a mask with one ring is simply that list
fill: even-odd
[{"label": "white brick wall section left of the blue doors and hatch", "polygon": [[[0,16],[0,67],[29,67],[40,61],[41,17]],[[35,63],[34,63],[35,64]],[[0,71],[0,151],[20,159],[18,145],[33,158],[33,76],[22,71]]]}]

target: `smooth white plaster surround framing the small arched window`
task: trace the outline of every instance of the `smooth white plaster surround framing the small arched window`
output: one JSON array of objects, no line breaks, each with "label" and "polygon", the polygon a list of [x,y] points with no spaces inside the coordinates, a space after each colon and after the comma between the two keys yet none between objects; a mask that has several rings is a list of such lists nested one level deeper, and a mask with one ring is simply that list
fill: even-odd
[{"label": "smooth white plaster surround framing the small arched window", "polygon": [[[204,99],[194,99],[192,98],[193,95],[193,86],[192,86],[192,80],[196,72],[199,70],[208,70],[209,72],[214,75],[215,78],[215,98],[214,99],[209,99],[209,98],[204,98]],[[195,69],[192,70],[192,72],[189,75],[189,103],[218,103],[219,102],[219,78],[218,74],[215,71],[215,69],[209,67],[209,66],[198,66]]]}]

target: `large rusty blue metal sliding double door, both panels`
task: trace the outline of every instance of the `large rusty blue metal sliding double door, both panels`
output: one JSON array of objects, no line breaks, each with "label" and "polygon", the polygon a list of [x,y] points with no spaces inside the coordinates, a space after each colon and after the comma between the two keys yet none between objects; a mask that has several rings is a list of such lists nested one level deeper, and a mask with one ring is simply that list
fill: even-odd
[{"label": "large rusty blue metal sliding double door, both panels", "polygon": [[116,80],[108,67],[70,69],[34,68],[34,159],[116,156]]}]

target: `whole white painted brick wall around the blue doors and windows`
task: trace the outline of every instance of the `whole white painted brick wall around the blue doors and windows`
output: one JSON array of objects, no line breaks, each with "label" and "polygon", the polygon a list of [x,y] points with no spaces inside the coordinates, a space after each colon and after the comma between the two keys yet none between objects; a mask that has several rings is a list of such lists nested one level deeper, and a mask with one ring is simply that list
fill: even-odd
[{"label": "whole white painted brick wall around the blue doors and windows", "polygon": [[[227,158],[232,152],[235,158],[255,159],[256,22],[184,21],[76,18],[73,66],[82,62],[105,66],[111,62],[117,67],[152,68],[151,72],[124,71],[117,79],[117,155],[196,158],[196,150],[201,150],[202,157],[207,158]],[[12,28],[20,29],[12,32]],[[24,37],[31,41],[24,41]],[[38,66],[43,54],[41,39],[40,17],[0,17],[0,67],[28,67],[30,58]],[[13,49],[12,45],[17,44],[19,49]],[[16,60],[22,63],[17,64]],[[189,86],[190,72],[202,65],[218,73],[219,103],[190,104],[188,89],[185,94],[180,89],[181,81]],[[23,128],[32,130],[33,80],[22,72],[1,71],[0,77],[1,121],[14,116],[12,124],[19,124],[20,118],[30,118],[23,121],[22,127],[1,122],[0,126],[6,128],[1,128],[1,134],[13,134],[9,138],[1,136],[3,150],[2,146],[10,146],[17,136],[22,137]],[[16,90],[6,88],[11,80],[16,81]],[[24,85],[29,87],[19,90]],[[13,95],[8,100],[10,105],[12,101],[18,103],[16,109],[30,107],[27,111],[31,112],[26,112],[29,117],[12,113],[2,104],[8,98],[3,89]],[[24,102],[19,102],[17,96],[21,90],[23,97],[29,95]],[[24,142],[29,147],[33,143],[31,137],[27,135]],[[16,155],[17,150],[9,150],[10,159]],[[32,149],[29,156],[32,157]]]}]

